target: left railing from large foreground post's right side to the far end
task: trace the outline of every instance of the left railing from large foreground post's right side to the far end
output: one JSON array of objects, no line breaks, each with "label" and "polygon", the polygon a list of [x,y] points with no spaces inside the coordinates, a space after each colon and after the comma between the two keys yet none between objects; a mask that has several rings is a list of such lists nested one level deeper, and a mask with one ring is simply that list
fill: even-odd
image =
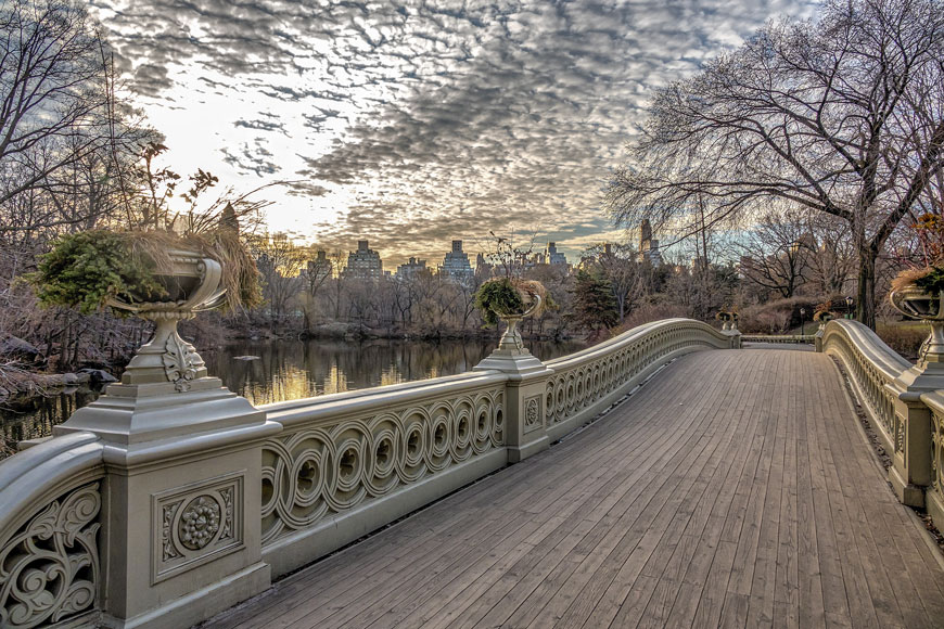
[{"label": "left railing from large foreground post's right side to the far end", "polygon": [[485,370],[260,407],[283,426],[263,446],[263,556],[276,575],[310,563],[546,448],[674,358],[730,348],[732,338],[673,319],[537,371]]}]

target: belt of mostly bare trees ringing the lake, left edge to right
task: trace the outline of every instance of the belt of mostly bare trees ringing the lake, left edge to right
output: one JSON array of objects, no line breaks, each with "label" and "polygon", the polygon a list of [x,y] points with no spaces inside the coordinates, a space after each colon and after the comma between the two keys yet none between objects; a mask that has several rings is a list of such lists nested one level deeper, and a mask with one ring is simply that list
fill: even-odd
[{"label": "belt of mostly bare trees ringing the lake, left edge to right", "polygon": [[[311,251],[267,234],[261,220],[259,197],[277,188],[217,194],[212,174],[164,166],[160,131],[122,88],[81,4],[3,3],[0,49],[0,389],[18,386],[24,370],[119,365],[149,334],[104,310],[38,307],[24,278],[58,238],[199,233],[226,213],[242,246],[266,260],[264,299],[184,325],[197,345],[483,334],[473,296],[484,274],[299,274]],[[523,332],[602,337],[732,308],[742,329],[783,332],[852,297],[852,314],[883,333],[891,279],[908,266],[944,272],[942,50],[940,0],[828,1],[816,17],[773,21],[655,90],[605,205],[617,224],[646,219],[668,234],[665,264],[621,245],[591,248],[572,270],[520,265],[512,271],[543,282],[554,304]]]}]

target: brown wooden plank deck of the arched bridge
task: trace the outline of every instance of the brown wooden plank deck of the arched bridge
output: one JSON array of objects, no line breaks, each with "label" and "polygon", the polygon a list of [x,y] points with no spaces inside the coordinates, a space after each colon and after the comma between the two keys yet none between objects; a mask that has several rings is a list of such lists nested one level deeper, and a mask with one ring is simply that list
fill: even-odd
[{"label": "brown wooden plank deck of the arched bridge", "polygon": [[549,451],[211,620],[944,627],[944,570],[822,355],[702,351]]}]

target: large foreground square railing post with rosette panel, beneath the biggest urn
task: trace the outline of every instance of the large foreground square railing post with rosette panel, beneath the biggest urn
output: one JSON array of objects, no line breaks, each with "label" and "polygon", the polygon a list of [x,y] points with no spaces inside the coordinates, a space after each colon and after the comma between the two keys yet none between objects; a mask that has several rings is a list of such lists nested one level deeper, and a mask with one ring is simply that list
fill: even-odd
[{"label": "large foreground square railing post with rosette panel, beneath the biggest urn", "polygon": [[168,338],[142,348],[120,384],[54,428],[104,444],[106,627],[189,627],[271,585],[259,532],[261,442],[281,425],[206,376],[176,330]]}]

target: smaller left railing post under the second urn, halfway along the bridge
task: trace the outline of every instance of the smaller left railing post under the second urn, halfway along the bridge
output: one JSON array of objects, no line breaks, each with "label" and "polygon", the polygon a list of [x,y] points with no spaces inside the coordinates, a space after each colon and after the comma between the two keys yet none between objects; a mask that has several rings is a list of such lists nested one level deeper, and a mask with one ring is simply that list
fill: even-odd
[{"label": "smaller left railing post under the second urn, halfway along the bridge", "polygon": [[547,450],[550,439],[547,436],[545,393],[553,370],[532,356],[520,339],[512,343],[505,337],[498,349],[476,364],[474,370],[495,370],[508,375],[505,386],[508,462],[518,463]]}]

